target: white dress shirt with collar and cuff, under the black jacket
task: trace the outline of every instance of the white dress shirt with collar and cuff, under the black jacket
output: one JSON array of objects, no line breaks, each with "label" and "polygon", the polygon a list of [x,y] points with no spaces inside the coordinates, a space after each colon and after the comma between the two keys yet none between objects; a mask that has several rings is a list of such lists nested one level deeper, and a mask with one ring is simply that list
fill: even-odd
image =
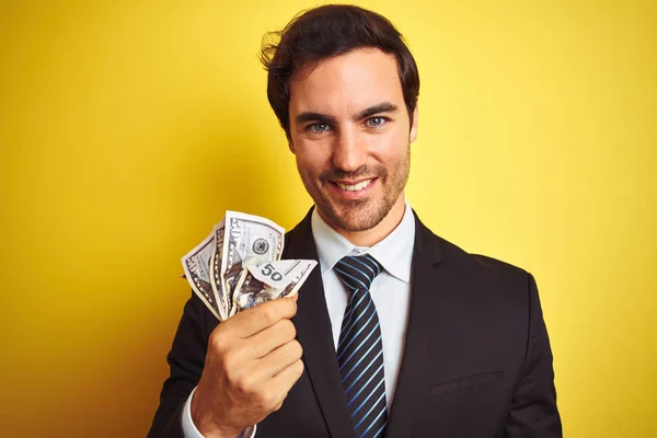
[{"label": "white dress shirt with collar and cuff, under the black jacket", "polygon": [[[318,249],[326,309],[331,319],[333,344],[337,350],[342,320],[347,308],[349,293],[333,270],[335,264],[346,255],[370,254],[382,266],[383,272],[374,278],[370,287],[372,301],[377,307],[383,344],[383,372],[385,374],[385,403],[392,405],[400,365],[404,355],[408,304],[411,302],[411,262],[415,242],[415,218],[408,201],[400,224],[382,241],[371,247],[356,246],[333,230],[318,214],[311,217],[312,234]],[[194,426],[191,413],[192,394],[183,411],[183,433],[186,438],[204,438]],[[239,437],[255,436],[255,426],[247,428]]]}]

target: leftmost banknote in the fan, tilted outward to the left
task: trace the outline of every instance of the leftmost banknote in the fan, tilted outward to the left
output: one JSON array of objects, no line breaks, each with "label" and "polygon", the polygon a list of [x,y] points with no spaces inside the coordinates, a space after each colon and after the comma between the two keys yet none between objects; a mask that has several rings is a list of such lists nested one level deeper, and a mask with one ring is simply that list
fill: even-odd
[{"label": "leftmost banknote in the fan, tilted outward to the left", "polygon": [[185,277],[192,286],[194,293],[210,309],[215,316],[219,318],[219,304],[212,291],[212,279],[210,276],[210,258],[215,249],[214,233],[208,235],[194,250],[189,251],[181,260]]}]

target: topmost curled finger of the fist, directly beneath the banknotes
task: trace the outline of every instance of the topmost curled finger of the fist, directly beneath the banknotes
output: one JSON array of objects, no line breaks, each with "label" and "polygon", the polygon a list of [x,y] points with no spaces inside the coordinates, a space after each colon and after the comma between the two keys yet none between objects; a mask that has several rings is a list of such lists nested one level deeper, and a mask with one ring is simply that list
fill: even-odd
[{"label": "topmost curled finger of the fist, directly beneath the banknotes", "polygon": [[[280,298],[246,309],[224,323],[231,336],[246,338],[270,327],[281,319],[290,319],[297,313],[297,303],[291,298]],[[227,324],[229,323],[229,324]],[[221,325],[221,324],[220,324]]]}]

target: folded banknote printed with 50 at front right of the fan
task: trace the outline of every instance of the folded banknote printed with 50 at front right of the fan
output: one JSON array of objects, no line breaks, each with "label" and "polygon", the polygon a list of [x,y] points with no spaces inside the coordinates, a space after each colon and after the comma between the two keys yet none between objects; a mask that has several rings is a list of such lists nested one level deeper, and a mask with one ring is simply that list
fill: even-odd
[{"label": "folded banknote printed with 50 at front right of the fan", "polygon": [[247,266],[235,286],[233,312],[293,296],[316,265],[312,260],[286,260]]}]

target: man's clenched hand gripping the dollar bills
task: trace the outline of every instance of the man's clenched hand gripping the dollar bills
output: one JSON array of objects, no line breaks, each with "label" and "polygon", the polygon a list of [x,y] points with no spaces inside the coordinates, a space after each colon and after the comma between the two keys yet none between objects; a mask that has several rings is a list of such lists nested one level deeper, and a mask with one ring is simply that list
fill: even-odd
[{"label": "man's clenched hand gripping the dollar bills", "polygon": [[210,334],[192,397],[192,419],[206,437],[235,437],[283,405],[301,377],[301,345],[290,319],[297,296],[244,310]]}]

